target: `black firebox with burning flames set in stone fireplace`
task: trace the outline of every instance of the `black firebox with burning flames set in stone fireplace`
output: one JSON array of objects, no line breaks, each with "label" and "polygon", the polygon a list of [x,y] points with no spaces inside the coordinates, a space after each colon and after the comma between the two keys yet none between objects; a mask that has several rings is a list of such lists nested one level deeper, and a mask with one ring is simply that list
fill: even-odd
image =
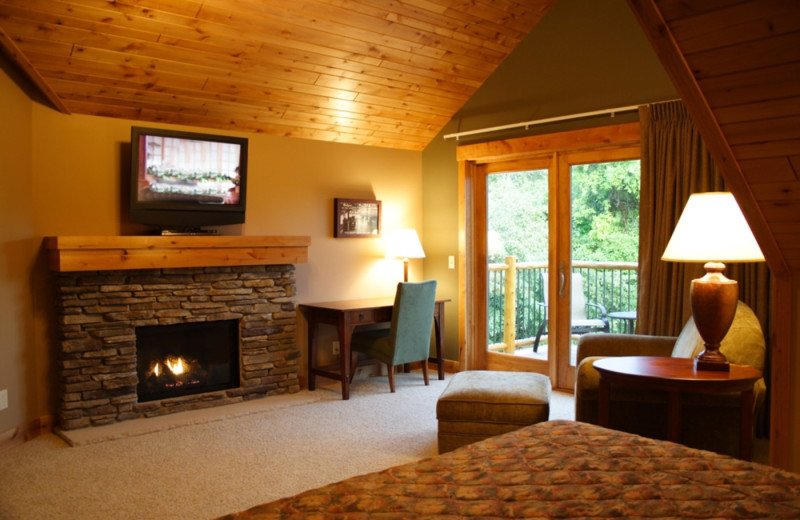
[{"label": "black firebox with burning flames set in stone fireplace", "polygon": [[139,402],[239,386],[239,322],[136,328]]}]

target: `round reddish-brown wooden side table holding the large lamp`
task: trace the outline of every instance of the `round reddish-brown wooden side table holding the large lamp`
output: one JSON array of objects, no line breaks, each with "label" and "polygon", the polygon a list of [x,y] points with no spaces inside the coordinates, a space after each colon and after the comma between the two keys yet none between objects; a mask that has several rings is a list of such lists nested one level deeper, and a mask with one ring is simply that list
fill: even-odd
[{"label": "round reddish-brown wooden side table holding the large lamp", "polygon": [[623,356],[598,359],[594,367],[600,373],[598,420],[609,425],[611,384],[667,392],[669,417],[667,439],[680,442],[681,394],[741,394],[741,429],[739,458],[750,460],[753,454],[753,385],[761,371],[744,365],[731,365],[730,372],[695,370],[694,360],[686,358]]}]

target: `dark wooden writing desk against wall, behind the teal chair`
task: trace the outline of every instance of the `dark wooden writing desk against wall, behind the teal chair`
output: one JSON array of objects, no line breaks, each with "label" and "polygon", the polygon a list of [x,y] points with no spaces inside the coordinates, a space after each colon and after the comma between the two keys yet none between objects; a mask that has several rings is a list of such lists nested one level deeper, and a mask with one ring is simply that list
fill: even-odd
[{"label": "dark wooden writing desk against wall, behind the teal chair", "polygon": [[[444,304],[450,300],[437,299],[433,308],[436,339],[436,357],[428,361],[437,363],[439,379],[444,379]],[[308,389],[316,388],[316,376],[342,382],[342,399],[350,399],[350,339],[359,325],[392,321],[394,296],[369,300],[348,300],[324,303],[303,303],[300,309],[308,320]],[[317,329],[319,324],[334,325],[339,335],[339,371],[317,367]]]}]

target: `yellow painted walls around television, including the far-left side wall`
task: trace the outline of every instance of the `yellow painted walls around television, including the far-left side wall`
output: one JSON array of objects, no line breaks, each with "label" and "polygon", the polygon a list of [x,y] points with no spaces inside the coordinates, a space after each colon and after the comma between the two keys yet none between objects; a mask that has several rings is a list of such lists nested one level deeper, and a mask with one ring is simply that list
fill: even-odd
[{"label": "yellow painted walls around television, including the far-left side wall", "polygon": [[[10,123],[2,125],[0,139],[0,389],[9,389],[11,401],[0,412],[2,441],[53,411],[55,317],[42,238],[141,234],[145,228],[125,221],[121,187],[130,128],[141,123],[59,113],[32,102],[1,72],[0,96],[2,120]],[[297,302],[393,295],[402,263],[384,258],[379,238],[333,238],[333,199],[381,200],[384,235],[398,227],[421,234],[421,153],[240,135],[249,139],[246,223],[219,232],[309,235],[309,262],[296,271]],[[410,267],[410,278],[421,279],[422,260]],[[304,341],[301,330],[301,352]]]}]

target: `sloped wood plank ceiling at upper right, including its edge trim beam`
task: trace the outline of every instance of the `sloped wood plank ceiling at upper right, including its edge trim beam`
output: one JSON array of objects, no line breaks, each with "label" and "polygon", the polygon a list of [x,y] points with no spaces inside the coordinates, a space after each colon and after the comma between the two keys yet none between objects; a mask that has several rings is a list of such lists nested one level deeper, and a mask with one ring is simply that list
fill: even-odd
[{"label": "sloped wood plank ceiling at upper right, including its edge trim beam", "polygon": [[771,269],[800,272],[800,2],[628,2]]}]

